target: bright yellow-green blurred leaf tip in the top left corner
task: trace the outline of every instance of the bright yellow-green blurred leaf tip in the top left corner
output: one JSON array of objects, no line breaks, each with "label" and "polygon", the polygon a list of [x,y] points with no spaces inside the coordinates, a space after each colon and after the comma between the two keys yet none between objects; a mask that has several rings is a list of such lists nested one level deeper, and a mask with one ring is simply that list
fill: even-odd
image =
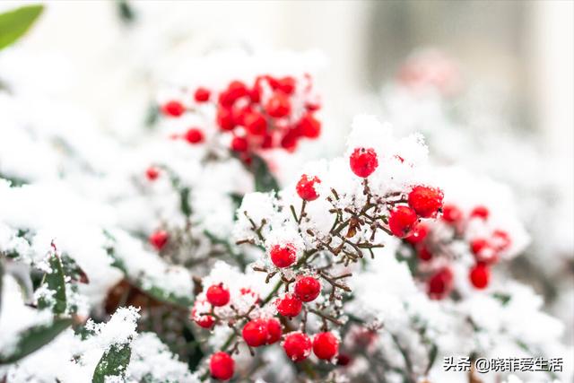
[{"label": "bright yellow-green blurred leaf tip in the top left corner", "polygon": [[44,5],[27,5],[0,13],[0,49],[20,39],[44,10]]}]

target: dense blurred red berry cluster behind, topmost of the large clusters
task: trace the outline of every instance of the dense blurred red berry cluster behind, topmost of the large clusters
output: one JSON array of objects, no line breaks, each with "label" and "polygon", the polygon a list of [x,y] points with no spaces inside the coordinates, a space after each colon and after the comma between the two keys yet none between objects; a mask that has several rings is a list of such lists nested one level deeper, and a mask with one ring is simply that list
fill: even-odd
[{"label": "dense blurred red berry cluster behind, topmost of the large clusters", "polygon": [[230,136],[230,149],[247,158],[248,152],[277,147],[294,151],[301,138],[317,138],[319,108],[309,74],[299,78],[265,74],[253,83],[231,81],[221,90],[196,88],[187,100],[163,103],[161,112],[168,118],[181,118],[187,113],[205,116],[206,109],[214,110],[213,121],[206,121],[206,126],[191,126],[175,137],[201,144],[204,129],[214,123],[222,135]]}]

